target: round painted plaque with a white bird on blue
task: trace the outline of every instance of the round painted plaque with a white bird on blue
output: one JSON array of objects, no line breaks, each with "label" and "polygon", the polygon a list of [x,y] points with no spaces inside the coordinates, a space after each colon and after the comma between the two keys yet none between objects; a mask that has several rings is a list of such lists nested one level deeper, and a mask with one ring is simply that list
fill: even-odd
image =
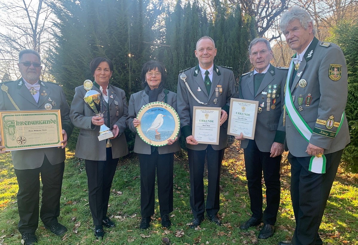
[{"label": "round painted plaque with a white bird on blue", "polygon": [[137,133],[147,144],[163,146],[168,139],[175,139],[179,134],[180,120],[178,113],[164,102],[151,102],[138,112]]}]

